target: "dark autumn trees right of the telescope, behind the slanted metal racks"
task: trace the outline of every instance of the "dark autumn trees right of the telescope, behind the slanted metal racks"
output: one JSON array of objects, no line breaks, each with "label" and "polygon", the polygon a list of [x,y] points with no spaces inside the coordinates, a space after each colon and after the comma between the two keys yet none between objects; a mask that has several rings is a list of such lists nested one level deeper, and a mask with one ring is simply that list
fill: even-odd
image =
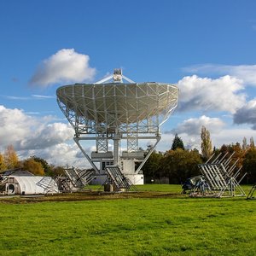
[{"label": "dark autumn trees right of the telescope, behind the slanted metal racks", "polygon": [[217,156],[219,153],[227,153],[228,157],[233,152],[235,152],[233,162],[230,164],[232,165],[235,160],[238,160],[237,168],[242,166],[238,179],[247,173],[242,183],[255,183],[256,148],[253,137],[250,138],[249,144],[244,137],[242,145],[231,143],[224,144],[220,148],[212,148],[210,132],[205,126],[201,127],[201,154],[197,149],[185,149],[182,138],[176,134],[171,149],[164,153],[154,150],[150,155],[143,166],[144,178],[146,183],[183,183],[189,177],[201,175],[198,165],[206,162],[212,154]]}]

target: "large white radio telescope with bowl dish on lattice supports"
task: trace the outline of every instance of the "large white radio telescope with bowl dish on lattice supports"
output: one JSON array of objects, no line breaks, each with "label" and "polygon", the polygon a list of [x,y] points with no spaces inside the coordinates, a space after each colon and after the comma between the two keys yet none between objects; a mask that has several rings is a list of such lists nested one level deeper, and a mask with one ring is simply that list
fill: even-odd
[{"label": "large white radio telescope with bowl dish on lattice supports", "polygon": [[[141,169],[160,141],[160,125],[177,107],[177,87],[136,83],[114,69],[95,84],[61,86],[56,95],[75,143],[96,172],[96,183],[106,179],[106,166],[119,166],[132,183],[143,184]],[[145,140],[154,142],[147,151],[140,146]],[[95,141],[96,151],[89,155],[84,141]]]}]

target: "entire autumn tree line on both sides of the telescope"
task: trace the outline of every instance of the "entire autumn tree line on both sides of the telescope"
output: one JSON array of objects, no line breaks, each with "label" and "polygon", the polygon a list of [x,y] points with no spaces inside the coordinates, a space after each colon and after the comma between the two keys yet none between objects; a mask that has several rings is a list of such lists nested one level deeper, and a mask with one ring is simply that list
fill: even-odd
[{"label": "entire autumn tree line on both sides of the telescope", "polygon": [[[150,149],[148,147],[145,154],[148,154]],[[235,152],[234,160],[239,159],[237,166],[242,166],[240,176],[242,177],[247,172],[247,176],[242,182],[255,183],[256,147],[253,137],[250,138],[249,144],[247,144],[247,139],[244,137],[242,145],[232,143],[224,144],[220,148],[212,148],[210,132],[207,131],[205,126],[201,127],[201,154],[196,148],[185,149],[182,138],[176,134],[169,150],[164,153],[154,150],[149,156],[142,169],[145,182],[183,183],[189,177],[201,175],[198,164],[206,162],[212,154],[228,153],[230,155],[233,152]],[[0,172],[16,168],[40,176],[56,177],[64,173],[63,166],[49,165],[46,160],[37,156],[19,160],[15,148],[9,145],[3,154],[0,153]]]}]

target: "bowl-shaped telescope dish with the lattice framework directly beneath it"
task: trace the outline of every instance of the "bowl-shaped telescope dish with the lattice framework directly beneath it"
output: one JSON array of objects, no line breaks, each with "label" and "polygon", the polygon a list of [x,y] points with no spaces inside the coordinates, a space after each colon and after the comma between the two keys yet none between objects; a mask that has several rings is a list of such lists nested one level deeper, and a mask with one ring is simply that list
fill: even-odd
[{"label": "bowl-shaped telescope dish with the lattice framework directly beneath it", "polygon": [[57,101],[77,137],[159,133],[160,125],[177,107],[177,87],[160,83],[73,84],[57,90]]}]

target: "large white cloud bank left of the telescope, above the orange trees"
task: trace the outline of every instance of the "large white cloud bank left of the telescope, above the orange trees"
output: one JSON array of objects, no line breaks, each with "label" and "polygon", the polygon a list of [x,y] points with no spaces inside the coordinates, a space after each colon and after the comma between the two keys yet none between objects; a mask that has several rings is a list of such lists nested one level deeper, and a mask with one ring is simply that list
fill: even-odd
[{"label": "large white cloud bank left of the telescope, above the orange trees", "polygon": [[52,123],[53,120],[50,116],[35,118],[20,109],[0,106],[0,152],[12,144],[21,157],[46,155],[45,160],[54,160],[61,165],[70,161],[72,164],[72,155],[79,152],[72,140],[73,128],[59,122]]}]

